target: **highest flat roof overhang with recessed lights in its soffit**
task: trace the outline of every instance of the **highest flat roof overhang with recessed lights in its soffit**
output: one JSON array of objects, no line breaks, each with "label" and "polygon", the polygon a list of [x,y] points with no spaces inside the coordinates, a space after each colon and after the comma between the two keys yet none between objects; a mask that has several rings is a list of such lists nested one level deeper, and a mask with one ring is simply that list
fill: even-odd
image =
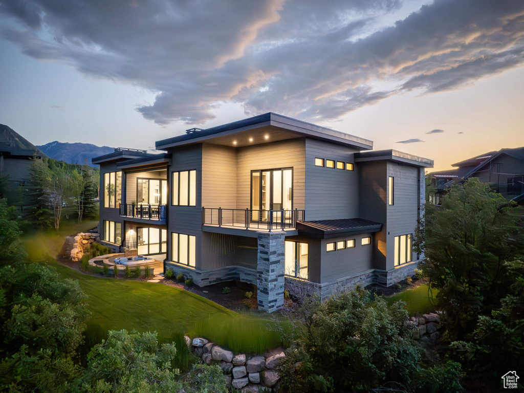
[{"label": "highest flat roof overhang with recessed lights in its soffit", "polygon": [[[163,150],[203,141],[210,141],[217,145],[242,147],[299,137],[331,141],[332,143],[352,146],[361,150],[373,149],[373,141],[369,139],[302,122],[272,112],[203,129],[192,134],[159,140],[156,142],[156,148]],[[234,141],[236,141],[236,144],[233,143]]]}]

